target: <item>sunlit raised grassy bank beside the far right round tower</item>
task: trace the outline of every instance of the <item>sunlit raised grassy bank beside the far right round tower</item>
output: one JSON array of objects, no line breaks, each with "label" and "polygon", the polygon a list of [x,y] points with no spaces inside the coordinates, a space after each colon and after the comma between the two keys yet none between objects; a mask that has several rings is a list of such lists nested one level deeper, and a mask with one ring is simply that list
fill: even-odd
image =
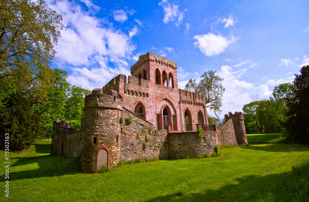
[{"label": "sunlit raised grassy bank beside the far right round tower", "polygon": [[281,133],[247,134],[247,140],[248,143],[259,143],[259,144],[291,143]]}]

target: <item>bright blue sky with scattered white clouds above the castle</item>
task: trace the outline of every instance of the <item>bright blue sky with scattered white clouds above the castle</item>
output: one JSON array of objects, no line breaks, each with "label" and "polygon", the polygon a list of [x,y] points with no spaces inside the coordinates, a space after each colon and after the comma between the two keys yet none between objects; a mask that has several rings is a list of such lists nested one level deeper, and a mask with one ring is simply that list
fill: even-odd
[{"label": "bright blue sky with scattered white clouds above the castle", "polygon": [[[178,85],[215,70],[224,78],[222,115],[267,99],[309,64],[308,1],[47,1],[66,30],[52,68],[92,90],[130,75],[138,56],[177,62]],[[209,112],[210,115],[214,115]]]}]

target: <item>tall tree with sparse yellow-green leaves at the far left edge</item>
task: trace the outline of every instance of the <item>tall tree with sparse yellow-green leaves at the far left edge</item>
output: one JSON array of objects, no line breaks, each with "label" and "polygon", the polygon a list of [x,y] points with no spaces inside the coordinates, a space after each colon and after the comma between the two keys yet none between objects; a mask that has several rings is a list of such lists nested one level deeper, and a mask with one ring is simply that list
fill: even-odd
[{"label": "tall tree with sparse yellow-green leaves at the far left edge", "polygon": [[[64,27],[61,20],[41,0],[0,0],[0,137],[10,132],[11,148],[23,149],[41,135],[30,123],[41,124],[33,106],[44,104],[54,80],[49,65]],[[26,143],[16,145],[17,137]]]}]

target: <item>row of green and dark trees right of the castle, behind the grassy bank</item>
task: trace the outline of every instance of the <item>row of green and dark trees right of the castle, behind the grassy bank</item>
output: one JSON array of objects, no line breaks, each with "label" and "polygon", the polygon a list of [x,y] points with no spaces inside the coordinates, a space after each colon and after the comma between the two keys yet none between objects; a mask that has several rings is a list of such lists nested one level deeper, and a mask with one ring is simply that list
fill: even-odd
[{"label": "row of green and dark trees right of the castle, behind the grassy bank", "polygon": [[273,89],[268,100],[243,106],[247,133],[284,132],[293,141],[309,142],[309,65],[295,74],[293,83]]}]

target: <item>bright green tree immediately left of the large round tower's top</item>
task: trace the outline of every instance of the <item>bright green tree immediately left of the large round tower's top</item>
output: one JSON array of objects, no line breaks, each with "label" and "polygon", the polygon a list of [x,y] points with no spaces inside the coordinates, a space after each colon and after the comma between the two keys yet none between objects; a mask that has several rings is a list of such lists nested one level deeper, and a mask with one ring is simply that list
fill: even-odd
[{"label": "bright green tree immediately left of the large round tower's top", "polygon": [[85,103],[85,93],[88,90],[72,86],[66,100],[66,117],[75,130],[81,129],[82,113]]}]

